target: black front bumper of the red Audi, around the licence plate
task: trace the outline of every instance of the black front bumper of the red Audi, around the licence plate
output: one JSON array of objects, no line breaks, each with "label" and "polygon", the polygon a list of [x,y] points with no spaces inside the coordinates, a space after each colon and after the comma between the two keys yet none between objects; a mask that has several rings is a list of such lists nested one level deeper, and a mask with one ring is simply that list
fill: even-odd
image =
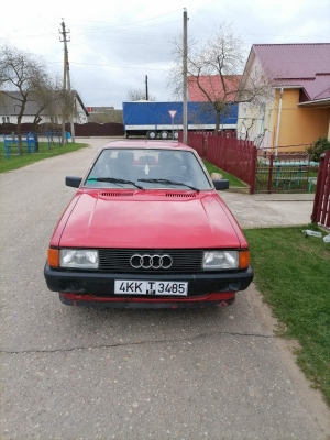
[{"label": "black front bumper of the red Audi, around the licence plate", "polygon": [[[205,272],[194,274],[132,274],[132,273],[102,273],[92,271],[64,271],[54,270],[46,263],[44,276],[50,290],[61,293],[61,300],[64,304],[80,305],[80,302],[98,302],[101,307],[112,304],[111,307],[129,307],[130,302],[145,307],[147,304],[164,304],[164,307],[173,307],[177,304],[197,302],[221,302],[222,300],[234,300],[239,290],[245,290],[253,279],[252,267],[243,271],[231,272]],[[165,278],[165,279],[164,279]],[[141,297],[141,295],[120,296],[114,294],[116,279],[136,279],[163,282],[187,282],[188,295]],[[216,297],[213,295],[217,295]],[[120,306],[121,304],[121,306]],[[167,306],[166,306],[167,305]]]}]

